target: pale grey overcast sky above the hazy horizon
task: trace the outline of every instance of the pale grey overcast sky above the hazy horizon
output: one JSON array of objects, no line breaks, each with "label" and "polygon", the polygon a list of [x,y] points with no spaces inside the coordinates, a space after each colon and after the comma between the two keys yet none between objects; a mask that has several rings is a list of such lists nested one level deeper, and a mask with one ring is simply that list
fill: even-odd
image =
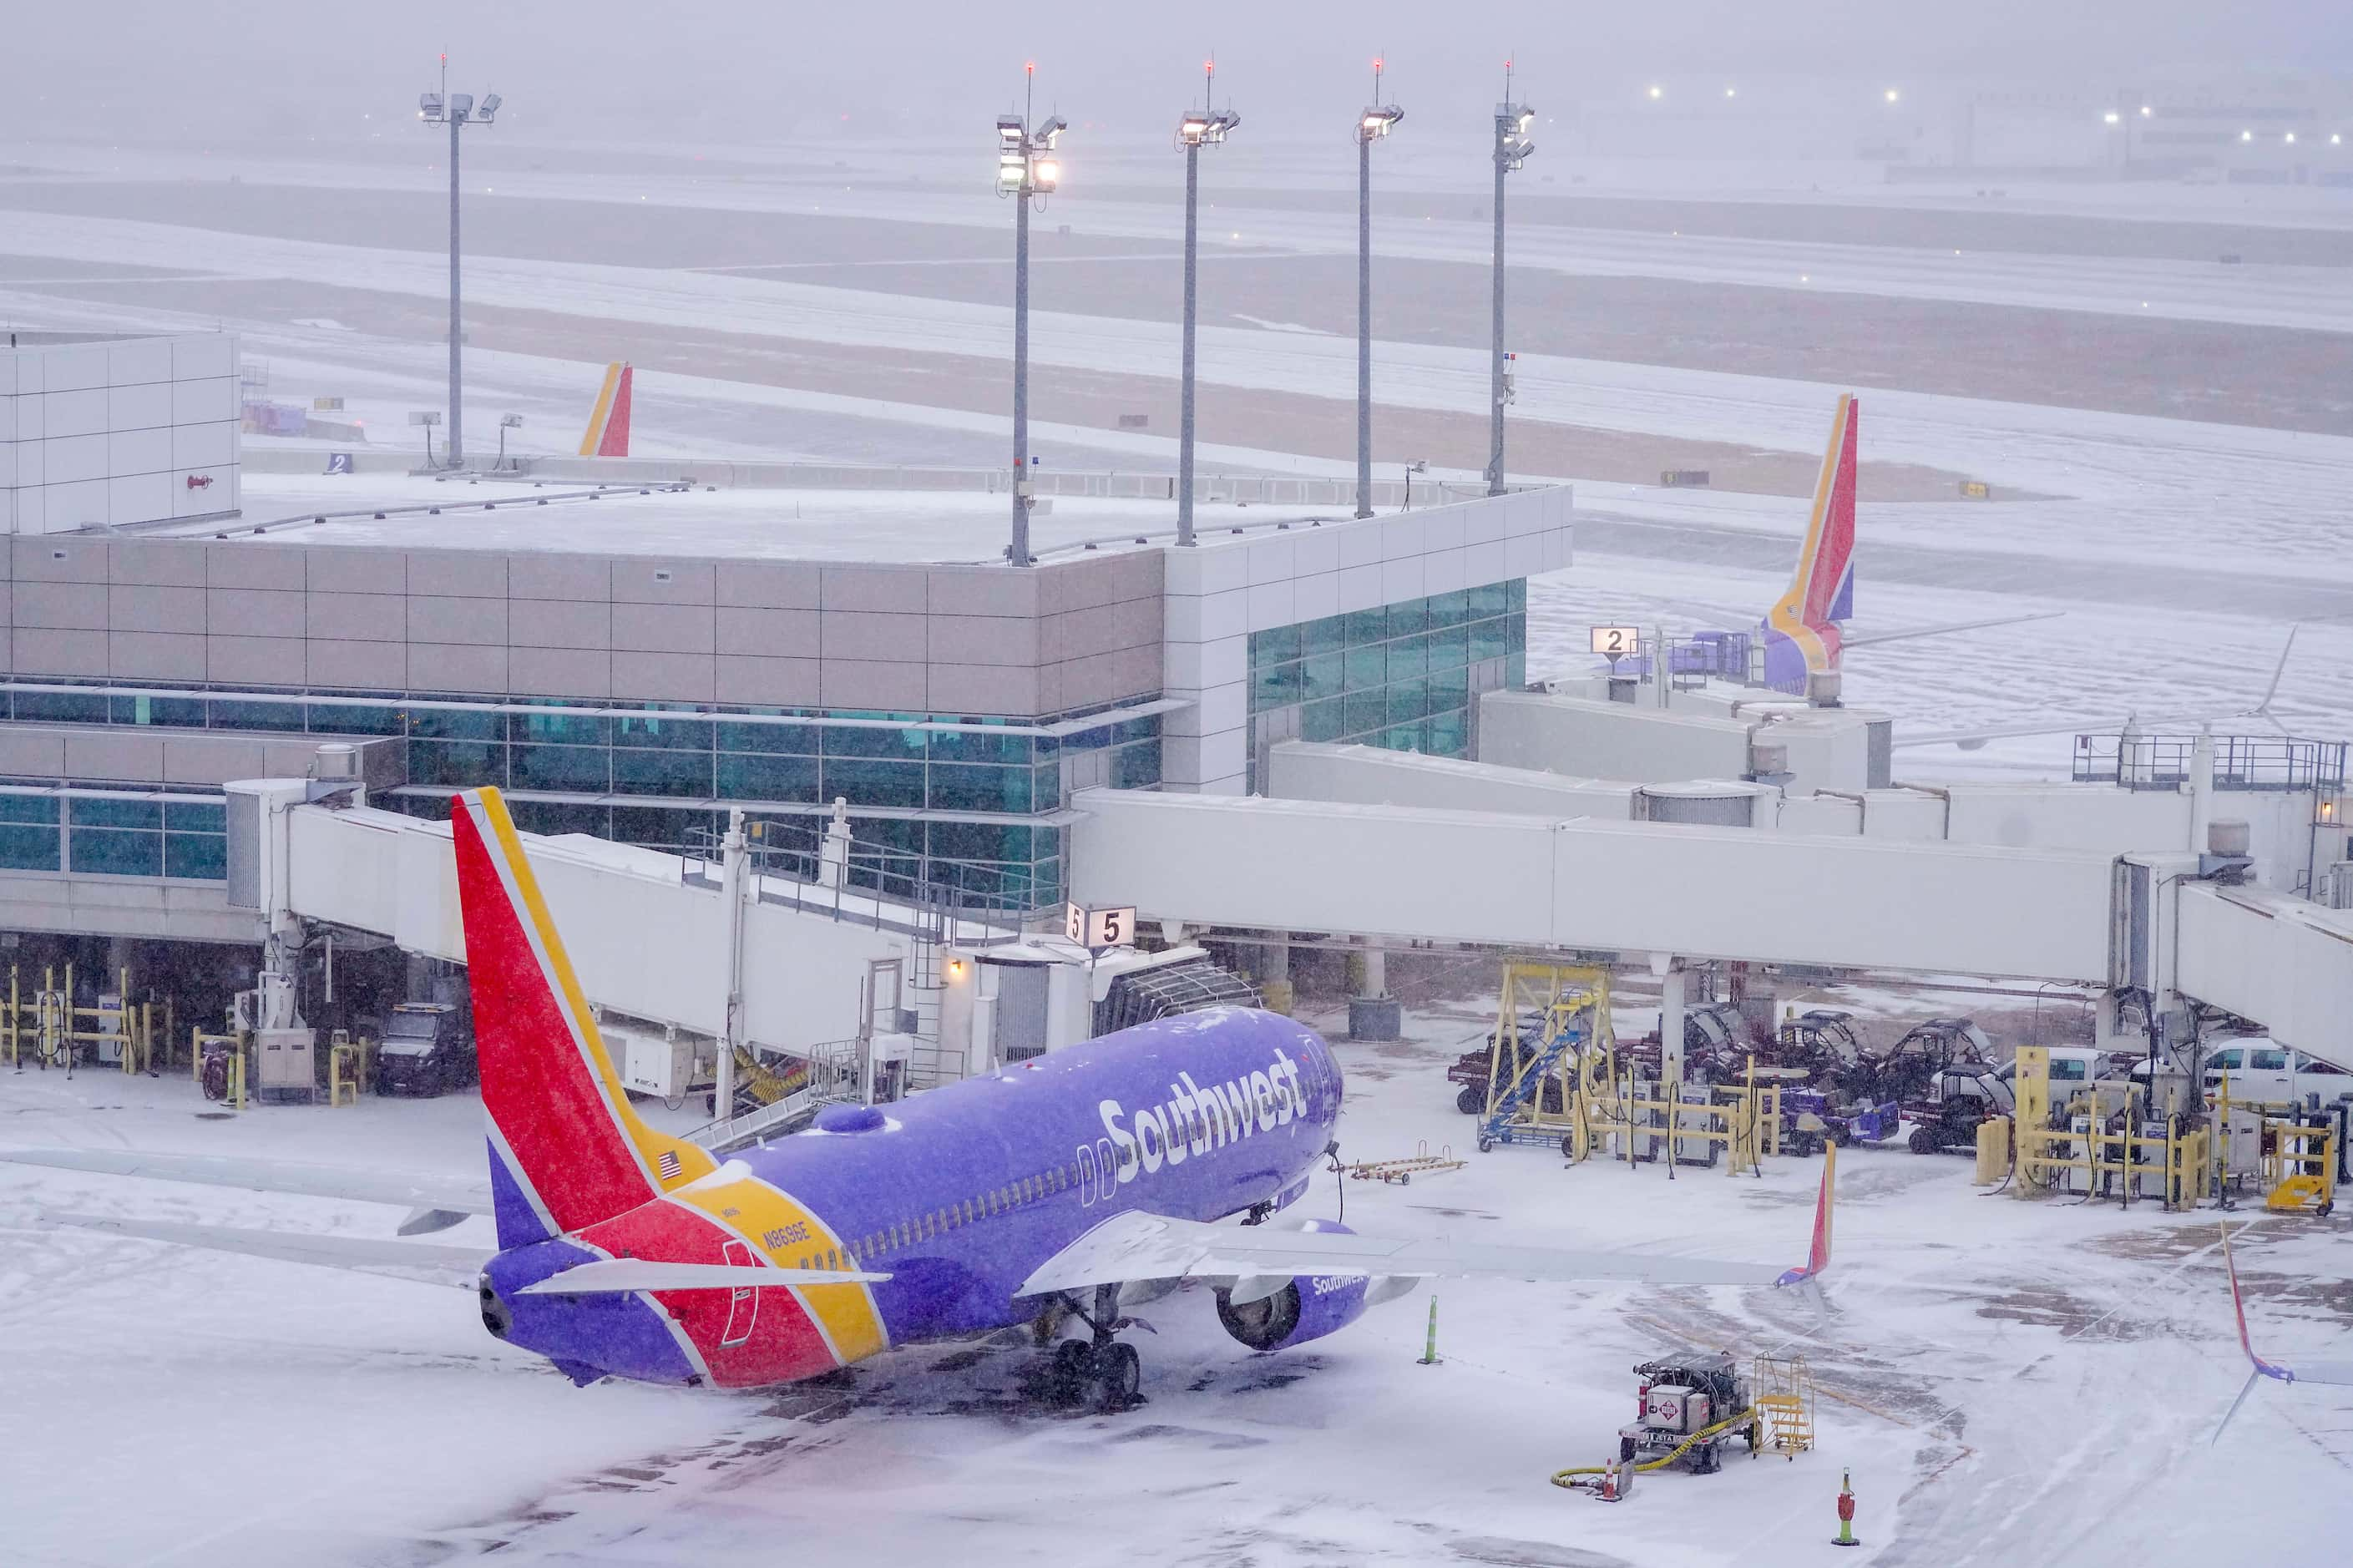
[{"label": "pale grey overcast sky above the hazy horizon", "polygon": [[[852,125],[934,132],[1005,104],[1026,59],[1038,61],[1040,97],[1071,120],[1155,129],[1193,94],[1207,49],[1242,111],[1280,125],[1355,108],[1374,52],[1386,52],[1393,97],[1407,106],[1492,101],[1513,52],[1525,97],[1548,108],[1678,73],[2092,87],[2167,66],[2353,73],[2353,2],[28,2],[9,16],[0,132],[336,134],[360,106],[412,111],[445,47],[452,87],[487,82],[508,94],[518,129],[562,139],[609,137],[621,111],[654,113],[689,139],[838,129],[842,113]],[[252,137],[240,134],[247,127]]]}]

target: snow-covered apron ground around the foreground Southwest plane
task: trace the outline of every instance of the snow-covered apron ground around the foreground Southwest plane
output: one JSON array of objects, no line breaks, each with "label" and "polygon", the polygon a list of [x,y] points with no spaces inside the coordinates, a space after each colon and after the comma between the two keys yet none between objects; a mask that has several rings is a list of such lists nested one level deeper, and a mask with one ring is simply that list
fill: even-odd
[{"label": "snow-covered apron ground around the foreground Southwest plane", "polygon": [[[1344,1154],[1466,1149],[1442,1064],[1480,1034],[1466,998],[1400,1045],[1341,1043]],[[0,1078],[0,1109],[14,1147],[480,1165],[471,1097],[228,1121],[181,1076],[85,1071]],[[1301,1208],[1784,1262],[1821,1170],[1468,1161],[1409,1187],[1325,1180]],[[1842,1471],[1852,1556],[1882,1563],[2186,1568],[2325,1556],[2353,1526],[2353,1394],[2264,1387],[2209,1446],[2242,1375],[2212,1210],[2019,1203],[1901,1149],[1842,1158],[1828,1318],[1772,1290],[1452,1281],[1426,1368],[1426,1295],[1252,1356],[1186,1290],[1144,1309],[1151,1403],[1118,1417],[1033,1403],[1019,1335],[889,1351],[831,1387],[574,1389],[489,1340],[468,1293],[35,1229],[40,1210],[358,1236],[398,1217],[0,1165],[12,1563],[1802,1563],[1833,1556]],[[2348,1222],[2235,1222],[2264,1349],[2341,1356]],[[1673,1349],[1805,1354],[1819,1450],[1652,1476],[1626,1507],[1548,1486],[1609,1453],[1628,1368]]]}]

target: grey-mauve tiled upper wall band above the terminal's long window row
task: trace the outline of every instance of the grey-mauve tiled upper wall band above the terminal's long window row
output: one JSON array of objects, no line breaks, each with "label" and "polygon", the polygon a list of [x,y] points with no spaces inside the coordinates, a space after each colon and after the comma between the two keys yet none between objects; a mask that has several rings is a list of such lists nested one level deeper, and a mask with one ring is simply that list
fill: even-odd
[{"label": "grey-mauve tiled upper wall band above the terminal's long window row", "polygon": [[1038,718],[1160,690],[1160,553],[1005,567],[19,537],[7,669]]}]

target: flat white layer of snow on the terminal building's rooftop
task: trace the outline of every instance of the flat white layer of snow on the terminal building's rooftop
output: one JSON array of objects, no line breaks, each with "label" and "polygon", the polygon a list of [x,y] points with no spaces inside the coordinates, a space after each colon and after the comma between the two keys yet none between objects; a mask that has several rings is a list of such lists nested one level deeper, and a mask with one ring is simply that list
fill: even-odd
[{"label": "flat white layer of snow on the terminal building's rooftop", "polygon": [[[179,532],[374,549],[991,563],[1005,553],[1012,516],[1009,497],[986,492],[631,485],[591,499],[588,490],[527,480],[247,473],[242,523]],[[1346,509],[1202,504],[1195,518],[1209,542],[1235,527],[1344,520]],[[1031,549],[1052,560],[1089,542],[1099,549],[1167,544],[1174,527],[1169,501],[1054,497],[1031,516]]]}]

